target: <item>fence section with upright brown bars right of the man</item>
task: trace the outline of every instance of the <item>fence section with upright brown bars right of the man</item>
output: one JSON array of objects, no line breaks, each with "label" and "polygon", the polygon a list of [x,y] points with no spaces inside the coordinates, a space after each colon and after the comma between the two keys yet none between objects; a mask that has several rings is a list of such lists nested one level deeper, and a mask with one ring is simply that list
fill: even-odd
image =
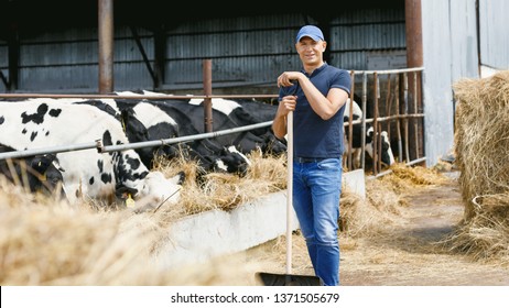
[{"label": "fence section with upright brown bars right of the man", "polygon": [[[354,92],[357,77],[361,78],[361,102],[362,118],[357,123],[361,124],[361,168],[366,169],[366,124],[372,123],[375,129],[372,174],[377,176],[382,172],[380,132],[387,131],[391,142],[397,143],[394,154],[399,163],[421,164],[425,162],[424,155],[424,113],[422,103],[422,72],[423,67],[388,69],[388,70],[350,70],[353,78],[350,99],[354,100]],[[371,76],[370,88],[368,76]],[[380,77],[382,76],[382,78]],[[409,85],[411,84],[411,87]],[[370,90],[370,95],[368,94]],[[381,101],[382,92],[385,99]],[[368,106],[368,97],[372,98]],[[380,110],[380,107],[383,107]],[[370,108],[370,109],[368,109]],[[370,111],[371,117],[367,117]],[[347,167],[353,168],[351,142],[353,122],[349,114],[349,122],[345,123],[348,134],[349,146],[347,153]],[[410,135],[412,134],[412,136]],[[386,174],[386,173],[383,173]]]}]

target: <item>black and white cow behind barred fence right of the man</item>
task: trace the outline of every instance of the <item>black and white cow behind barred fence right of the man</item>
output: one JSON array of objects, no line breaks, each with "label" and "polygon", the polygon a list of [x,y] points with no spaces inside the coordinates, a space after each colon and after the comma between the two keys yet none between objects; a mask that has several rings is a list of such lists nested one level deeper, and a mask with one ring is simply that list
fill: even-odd
[{"label": "black and white cow behind barred fence right of the man", "polygon": [[[362,110],[358,106],[358,103],[354,100],[351,102],[351,121],[358,121],[362,118]],[[345,122],[344,127],[344,144],[345,144],[345,153],[344,153],[344,162],[346,162],[346,157],[349,151],[349,117],[350,117],[350,99],[347,100],[345,103],[345,113],[343,120]],[[351,140],[351,153],[353,153],[353,167],[355,169],[360,167],[360,154],[362,148],[362,127],[361,123],[354,123],[353,124],[353,140]],[[391,166],[394,164],[394,156],[392,155],[392,150],[390,146],[390,141],[387,131],[380,132],[381,139],[381,148],[378,151],[380,153],[381,163],[386,166]],[[375,139],[375,128],[370,123],[366,123],[366,138],[365,138],[365,151],[369,155],[369,157],[373,157],[373,142]]]}]

